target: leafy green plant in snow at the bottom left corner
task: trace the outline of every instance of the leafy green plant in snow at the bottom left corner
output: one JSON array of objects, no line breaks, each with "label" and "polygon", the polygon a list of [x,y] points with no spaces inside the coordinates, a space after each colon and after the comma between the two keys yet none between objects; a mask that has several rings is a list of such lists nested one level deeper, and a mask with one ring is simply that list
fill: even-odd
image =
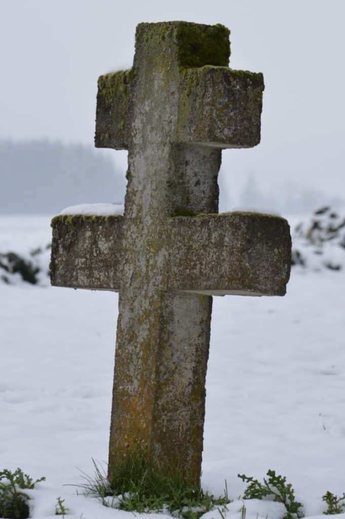
[{"label": "leafy green plant in snow at the bottom left corner", "polygon": [[4,469],[0,472],[0,517],[26,519],[29,517],[29,496],[22,489],[32,489],[36,483],[44,481],[41,477],[34,481],[18,468],[14,472]]}]

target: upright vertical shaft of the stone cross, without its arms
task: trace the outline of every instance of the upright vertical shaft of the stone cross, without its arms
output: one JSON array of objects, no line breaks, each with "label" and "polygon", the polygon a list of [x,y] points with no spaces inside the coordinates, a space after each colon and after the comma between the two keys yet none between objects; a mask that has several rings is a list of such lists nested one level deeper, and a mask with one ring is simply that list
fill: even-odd
[{"label": "upright vertical shaft of the stone cross, without its arms", "polygon": [[221,152],[172,144],[178,63],[171,42],[157,56],[148,29],[137,33],[134,59],[109,466],[142,445],[198,481],[212,297],[167,292],[167,218],[180,207],[218,211]]}]

